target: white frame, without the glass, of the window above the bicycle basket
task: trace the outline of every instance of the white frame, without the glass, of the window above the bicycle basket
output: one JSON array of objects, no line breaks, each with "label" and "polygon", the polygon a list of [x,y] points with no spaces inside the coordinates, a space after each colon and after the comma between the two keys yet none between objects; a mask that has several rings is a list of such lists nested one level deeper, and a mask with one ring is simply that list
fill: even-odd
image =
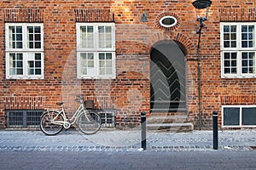
[{"label": "white frame, without the glass, of the window above the bicycle basket", "polygon": [[[93,48],[83,48],[82,47],[82,35],[81,35],[81,27],[82,26],[93,26]],[[110,48],[101,48],[99,45],[99,26],[111,26],[111,47]],[[77,23],[76,24],[77,30],[77,77],[81,79],[114,79],[116,77],[116,65],[115,65],[115,25],[114,23]],[[91,35],[90,35],[91,36]],[[92,68],[93,74],[90,75],[83,75],[82,68],[81,68],[81,54],[93,54],[94,55],[94,67]],[[112,55],[112,71],[111,74],[104,74],[101,75],[99,71],[100,66],[100,59],[99,55],[111,54]]]}]

